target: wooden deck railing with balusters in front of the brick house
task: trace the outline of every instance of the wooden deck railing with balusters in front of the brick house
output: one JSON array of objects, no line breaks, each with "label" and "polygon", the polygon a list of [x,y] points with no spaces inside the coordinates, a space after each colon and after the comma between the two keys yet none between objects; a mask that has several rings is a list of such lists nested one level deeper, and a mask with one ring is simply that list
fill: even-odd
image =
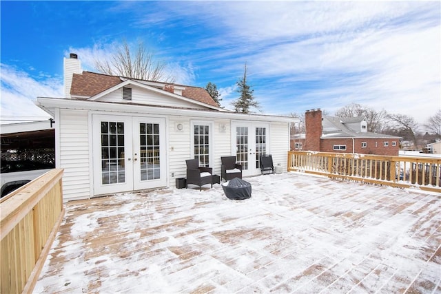
[{"label": "wooden deck railing with balusters in front of the brick house", "polygon": [[441,192],[441,158],[288,151],[288,171]]}]

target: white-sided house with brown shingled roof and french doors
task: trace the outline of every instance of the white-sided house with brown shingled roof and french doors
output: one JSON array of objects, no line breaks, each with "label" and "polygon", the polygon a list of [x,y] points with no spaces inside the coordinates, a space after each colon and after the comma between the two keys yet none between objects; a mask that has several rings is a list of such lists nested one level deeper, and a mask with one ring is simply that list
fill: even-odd
[{"label": "white-sided house with brown shingled roof and french doors", "polygon": [[296,118],[230,112],[201,87],[81,72],[76,54],[64,66],[66,97],[37,105],[56,122],[66,201],[175,187],[189,158],[218,175],[220,156],[236,156],[243,176],[260,174],[260,154],[287,168]]}]

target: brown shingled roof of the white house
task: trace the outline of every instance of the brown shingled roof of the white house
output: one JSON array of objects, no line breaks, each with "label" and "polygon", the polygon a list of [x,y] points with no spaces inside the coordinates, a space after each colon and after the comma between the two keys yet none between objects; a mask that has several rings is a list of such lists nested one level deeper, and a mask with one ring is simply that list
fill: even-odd
[{"label": "brown shingled roof of the white house", "polygon": [[[123,83],[127,78],[121,76],[109,76],[107,74],[97,74],[95,72],[83,72],[82,74],[74,74],[72,76],[72,87],[70,88],[71,96],[92,97],[99,94],[119,83]],[[133,81],[139,81],[132,79]],[[147,81],[148,82],[148,81]],[[161,83],[161,82],[154,82]],[[198,102],[218,107],[218,104],[212,96],[202,87],[192,87],[188,85],[178,85],[174,83],[163,83],[168,86],[185,87],[182,90],[182,96],[190,98]]]}]

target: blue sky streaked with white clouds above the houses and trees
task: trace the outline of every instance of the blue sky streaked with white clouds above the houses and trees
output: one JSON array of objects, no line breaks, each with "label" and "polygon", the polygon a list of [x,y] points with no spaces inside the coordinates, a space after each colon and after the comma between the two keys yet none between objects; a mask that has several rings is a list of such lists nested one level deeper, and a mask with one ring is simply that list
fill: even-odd
[{"label": "blue sky streaked with white clouds above the houses and trees", "polygon": [[1,116],[45,116],[63,57],[83,70],[143,41],[176,83],[247,79],[264,114],[360,103],[425,123],[441,108],[440,1],[1,1]]}]

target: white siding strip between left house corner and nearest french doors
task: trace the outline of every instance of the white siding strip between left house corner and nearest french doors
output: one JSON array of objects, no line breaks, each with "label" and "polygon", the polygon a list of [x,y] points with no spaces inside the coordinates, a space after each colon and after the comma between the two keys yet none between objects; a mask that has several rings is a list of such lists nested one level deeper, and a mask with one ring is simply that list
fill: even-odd
[{"label": "white siding strip between left house corner and nearest french doors", "polygon": [[63,174],[63,200],[90,198],[88,112],[60,111],[59,158]]}]

